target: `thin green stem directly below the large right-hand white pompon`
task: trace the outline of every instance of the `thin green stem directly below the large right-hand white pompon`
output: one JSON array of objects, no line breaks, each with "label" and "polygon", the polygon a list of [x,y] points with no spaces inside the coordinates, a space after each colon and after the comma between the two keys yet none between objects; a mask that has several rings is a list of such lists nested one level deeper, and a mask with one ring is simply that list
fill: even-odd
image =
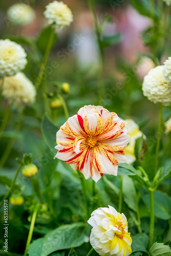
[{"label": "thin green stem directly below the large right-hand white pompon", "polygon": [[160,141],[161,141],[162,117],[163,117],[163,105],[160,104],[160,118],[159,118],[157,145],[156,145],[156,154],[155,154],[155,172],[156,173],[157,173],[158,166],[159,166],[159,148],[160,148]]}]

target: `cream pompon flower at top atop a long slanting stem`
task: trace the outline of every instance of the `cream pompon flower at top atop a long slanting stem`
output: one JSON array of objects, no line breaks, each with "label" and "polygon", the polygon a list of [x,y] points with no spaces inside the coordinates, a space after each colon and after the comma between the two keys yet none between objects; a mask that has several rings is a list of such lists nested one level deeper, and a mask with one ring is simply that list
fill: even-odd
[{"label": "cream pompon flower at top atop a long slanting stem", "polygon": [[67,27],[73,22],[73,14],[70,8],[63,2],[53,1],[46,6],[44,12],[49,24],[54,24],[57,27]]}]

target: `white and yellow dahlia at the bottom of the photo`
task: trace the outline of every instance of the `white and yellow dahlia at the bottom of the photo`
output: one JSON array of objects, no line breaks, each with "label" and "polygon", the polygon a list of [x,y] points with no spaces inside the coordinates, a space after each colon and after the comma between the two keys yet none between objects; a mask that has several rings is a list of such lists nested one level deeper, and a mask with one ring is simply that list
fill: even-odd
[{"label": "white and yellow dahlia at the bottom of the photo", "polygon": [[127,232],[127,220],[114,207],[93,211],[88,223],[93,227],[90,243],[99,255],[128,256],[132,253],[132,238]]}]

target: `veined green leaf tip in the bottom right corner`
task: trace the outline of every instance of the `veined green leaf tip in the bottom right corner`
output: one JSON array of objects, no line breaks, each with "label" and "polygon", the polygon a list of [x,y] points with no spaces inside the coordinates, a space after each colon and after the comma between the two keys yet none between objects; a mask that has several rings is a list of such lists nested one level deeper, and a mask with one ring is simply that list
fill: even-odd
[{"label": "veined green leaf tip in the bottom right corner", "polygon": [[171,255],[171,249],[169,245],[164,245],[164,243],[155,243],[152,245],[152,247],[149,249],[149,253],[151,256],[170,256]]}]

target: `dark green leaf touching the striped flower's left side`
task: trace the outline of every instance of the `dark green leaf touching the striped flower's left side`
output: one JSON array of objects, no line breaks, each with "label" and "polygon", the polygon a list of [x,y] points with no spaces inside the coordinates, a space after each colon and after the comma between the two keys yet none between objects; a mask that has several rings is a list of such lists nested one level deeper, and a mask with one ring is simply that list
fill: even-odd
[{"label": "dark green leaf touching the striped flower's left side", "polygon": [[57,153],[57,150],[55,150],[54,147],[56,146],[56,132],[58,130],[59,130],[58,127],[55,126],[49,120],[49,118],[47,117],[47,114],[45,114],[41,122],[41,132],[53,156],[55,156]]}]

